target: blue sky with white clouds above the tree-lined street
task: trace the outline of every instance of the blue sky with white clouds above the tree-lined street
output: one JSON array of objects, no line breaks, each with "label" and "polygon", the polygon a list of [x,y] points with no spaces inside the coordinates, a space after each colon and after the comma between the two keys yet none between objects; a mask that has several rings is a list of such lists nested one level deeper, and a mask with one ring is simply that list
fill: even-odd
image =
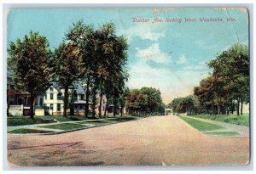
[{"label": "blue sky with white clouds above the tree-lined street", "polygon": [[218,53],[237,42],[248,45],[246,8],[15,9],[8,16],[8,42],[38,31],[56,48],[72,23],[81,19],[95,27],[115,24],[117,35],[129,43],[126,85],[160,89],[165,104],[193,94],[211,72],[207,62]]}]

